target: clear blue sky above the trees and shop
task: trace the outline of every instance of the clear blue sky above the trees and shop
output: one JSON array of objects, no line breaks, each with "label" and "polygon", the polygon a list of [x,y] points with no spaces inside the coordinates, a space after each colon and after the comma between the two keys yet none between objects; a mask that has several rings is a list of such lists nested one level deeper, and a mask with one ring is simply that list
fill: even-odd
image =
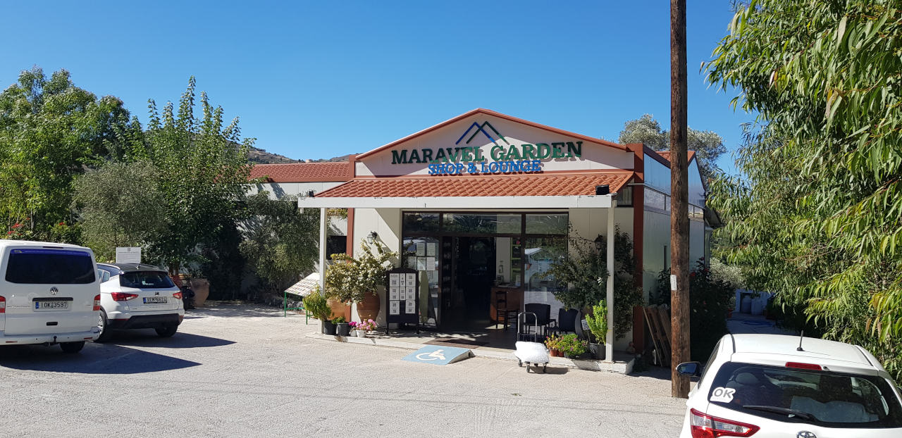
[{"label": "clear blue sky above the trees and shop", "polygon": [[[749,114],[704,84],[729,0],[688,2],[689,125],[733,151]],[[0,84],[41,66],[144,123],[194,75],[256,146],[369,151],[476,107],[616,141],[669,125],[669,2],[5,2]],[[719,164],[732,169],[732,159]]]}]

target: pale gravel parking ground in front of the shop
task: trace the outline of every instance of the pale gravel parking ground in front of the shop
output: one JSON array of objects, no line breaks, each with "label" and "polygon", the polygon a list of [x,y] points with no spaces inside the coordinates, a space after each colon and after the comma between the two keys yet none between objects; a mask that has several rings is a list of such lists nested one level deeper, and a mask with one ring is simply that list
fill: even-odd
[{"label": "pale gravel parking ground in front of the shop", "polygon": [[0,347],[3,436],[676,437],[685,409],[668,372],[640,376],[309,339],[316,321],[254,306],[189,311],[152,330],[59,347]]}]

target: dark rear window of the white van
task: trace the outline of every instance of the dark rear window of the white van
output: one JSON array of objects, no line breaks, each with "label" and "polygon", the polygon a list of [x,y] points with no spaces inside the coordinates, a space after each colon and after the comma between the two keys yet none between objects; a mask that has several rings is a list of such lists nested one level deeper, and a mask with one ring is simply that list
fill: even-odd
[{"label": "dark rear window of the white van", "polygon": [[9,251],[5,278],[18,284],[77,285],[93,283],[97,272],[86,251],[27,248]]}]

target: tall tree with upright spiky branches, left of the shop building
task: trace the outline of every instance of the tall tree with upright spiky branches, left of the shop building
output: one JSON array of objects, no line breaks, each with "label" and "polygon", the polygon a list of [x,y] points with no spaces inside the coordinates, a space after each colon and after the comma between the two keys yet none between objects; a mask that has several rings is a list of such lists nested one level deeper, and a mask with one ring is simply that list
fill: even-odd
[{"label": "tall tree with upright spiky branches, left of the shop building", "polygon": [[242,214],[236,203],[244,198],[251,169],[247,153],[254,139],[241,141],[238,119],[224,127],[222,107],[210,105],[203,92],[199,117],[195,106],[193,77],[177,110],[168,102],[159,113],[150,100],[145,141],[125,151],[158,170],[166,232],[152,239],[149,252],[171,272],[187,261],[202,261],[199,245],[215,241],[222,227],[235,226]]}]

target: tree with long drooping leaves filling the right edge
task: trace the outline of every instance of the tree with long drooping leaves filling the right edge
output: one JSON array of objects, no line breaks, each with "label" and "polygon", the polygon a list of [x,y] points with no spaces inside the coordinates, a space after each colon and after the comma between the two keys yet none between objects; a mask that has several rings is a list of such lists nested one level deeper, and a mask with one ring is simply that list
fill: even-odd
[{"label": "tree with long drooping leaves filling the right edge", "polygon": [[707,64],[759,114],[713,185],[728,260],[824,336],[902,377],[902,20],[897,1],[752,1]]}]

